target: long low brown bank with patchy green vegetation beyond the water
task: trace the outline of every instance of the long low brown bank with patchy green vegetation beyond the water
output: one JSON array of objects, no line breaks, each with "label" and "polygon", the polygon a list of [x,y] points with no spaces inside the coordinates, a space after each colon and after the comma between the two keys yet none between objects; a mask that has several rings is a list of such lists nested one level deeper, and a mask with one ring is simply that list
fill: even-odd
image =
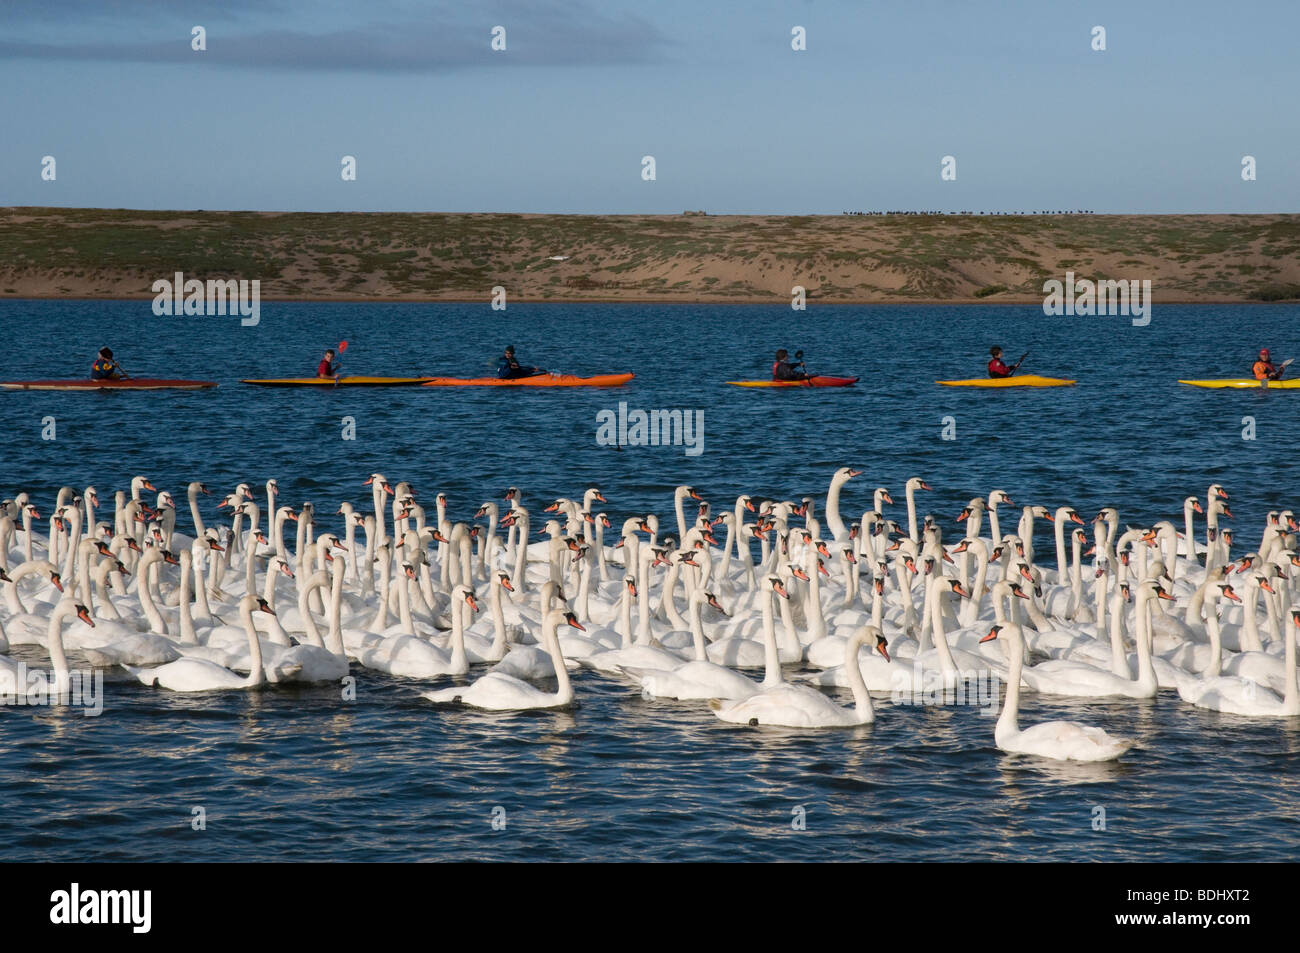
[{"label": "long low brown bank with patchy green vegetation beyond the water", "polygon": [[148,298],[178,270],[335,300],[1040,302],[1066,270],[1277,300],[1300,298],[1300,216],[0,209],[0,296]]}]

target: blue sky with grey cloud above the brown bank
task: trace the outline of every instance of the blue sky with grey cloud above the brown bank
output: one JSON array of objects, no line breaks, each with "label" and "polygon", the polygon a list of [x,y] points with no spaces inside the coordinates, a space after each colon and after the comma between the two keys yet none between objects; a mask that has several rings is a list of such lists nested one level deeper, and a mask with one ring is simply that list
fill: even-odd
[{"label": "blue sky with grey cloud above the brown bank", "polygon": [[1297,212],[1297,35],[1295,0],[0,0],[0,205]]}]

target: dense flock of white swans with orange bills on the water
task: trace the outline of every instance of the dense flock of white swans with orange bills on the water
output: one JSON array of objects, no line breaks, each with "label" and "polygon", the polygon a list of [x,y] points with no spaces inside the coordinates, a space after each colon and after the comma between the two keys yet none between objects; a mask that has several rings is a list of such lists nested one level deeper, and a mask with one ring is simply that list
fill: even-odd
[{"label": "dense flock of white swans with orange bills on the water", "polygon": [[[679,486],[676,533],[653,514],[615,530],[595,488],[532,507],[511,488],[454,521],[443,494],[429,511],[382,473],[365,481],[368,504],[338,508],[338,532],[317,532],[328,520],[311,503],[281,504],[274,480],[265,497],[242,484],[221,499],[220,527],[200,512],[208,489],[190,484],[192,537],[146,477],[117,491],[112,519],[94,486],[64,488],[46,533],[18,494],[0,503],[0,696],[34,690],[10,654],[27,645],[48,653],[60,690],[73,651],[170,692],[337,683],[358,666],[417,680],[434,703],[508,711],[573,705],[581,667],[725,722],[790,728],[867,724],[872,693],[937,679],[946,701],[996,676],[997,746],[1075,761],[1132,742],[1074,722],[1022,728],[1022,692],[1164,689],[1236,715],[1300,715],[1290,511],[1270,512],[1257,549],[1234,558],[1218,485],[1204,506],[1187,497],[1182,532],[1122,527],[1112,507],[1086,521],[1069,506],[1024,506],[1004,532],[1014,504],[993,490],[945,541],[953,523],[918,519],[930,486],[916,477],[906,525],[887,515],[884,488],[846,525],[840,497],[858,476],[837,469],[820,512],[807,497],[749,495],[715,511]],[[1053,567],[1039,564],[1037,520],[1054,529]]]}]

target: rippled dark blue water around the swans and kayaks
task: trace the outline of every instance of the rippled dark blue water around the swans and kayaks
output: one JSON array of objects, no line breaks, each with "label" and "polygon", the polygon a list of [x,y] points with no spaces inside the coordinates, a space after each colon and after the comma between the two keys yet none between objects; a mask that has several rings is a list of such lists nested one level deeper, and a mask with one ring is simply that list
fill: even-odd
[{"label": "rippled dark blue water around the swans and kayaks", "polygon": [[[0,393],[0,495],[58,486],[101,494],[147,475],[183,497],[277,477],[285,502],[369,499],[382,469],[454,519],[507,485],[529,506],[598,484],[619,520],[671,517],[692,482],[729,508],[740,491],[824,497],[831,472],[866,473],[945,524],[994,486],[1022,503],[1091,516],[1180,520],[1213,481],[1231,494],[1235,551],[1270,508],[1295,507],[1300,393],[1205,391],[1178,377],[1245,372],[1261,345],[1300,355],[1296,306],[1156,306],[1123,317],[1044,317],[1037,307],[511,306],[264,303],[238,319],[155,317],[148,302],[3,302],[0,377],[78,377],[109,343],[136,376],[213,378],[209,393]],[[521,360],[573,373],[634,371],[618,391],[263,390],[239,377],[311,374],[347,339],[350,373],[476,376],[514,343]],[[936,387],[983,372],[991,343],[1074,389]],[[850,390],[728,387],[763,377],[777,346],[810,369],[863,377]],[[595,413],[705,412],[705,451],[595,445]],[[941,419],[957,439],[940,439]],[[42,441],[55,416],[57,439]],[[341,439],[341,419],[356,441]],[[1243,417],[1257,439],[1242,439]],[[216,517],[216,499],[205,515]],[[1300,508],[1300,507],[1296,507]],[[47,514],[43,514],[47,515]],[[188,523],[187,515],[182,519]],[[956,538],[953,533],[952,538]],[[1039,551],[1050,559],[1050,538]],[[36,657],[39,658],[39,657]],[[356,671],[354,668],[354,671]],[[1002,754],[976,709],[879,703],[874,727],[784,732],[716,722],[701,705],[642,701],[577,676],[571,712],[432,710],[422,683],[360,672],[335,688],[178,697],[109,676],[100,718],[0,709],[0,859],[1292,859],[1300,844],[1300,727],[1154,702],[1044,701],[1138,737],[1104,766]],[[203,806],[204,832],[190,827]],[[493,831],[494,807],[507,827]],[[1108,829],[1092,829],[1093,807]],[[790,829],[792,811],[807,829]]]}]

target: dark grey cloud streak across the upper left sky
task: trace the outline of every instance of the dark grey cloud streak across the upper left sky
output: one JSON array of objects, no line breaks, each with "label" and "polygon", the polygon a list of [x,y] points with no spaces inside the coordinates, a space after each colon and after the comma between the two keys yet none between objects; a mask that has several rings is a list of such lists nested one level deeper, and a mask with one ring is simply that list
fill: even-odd
[{"label": "dark grey cloud streak across the upper left sky", "polygon": [[[30,0],[10,0],[20,7],[34,8]],[[73,0],[74,5],[86,5]],[[157,13],[152,0],[118,0],[122,8],[143,17],[146,10]],[[187,3],[194,16],[186,18],[168,9],[170,25],[202,23],[200,3]],[[433,8],[424,17],[394,18],[389,22],[341,23],[333,29],[311,31],[308,23],[320,17],[309,9],[302,16],[290,13],[278,17],[277,25],[246,29],[238,34],[220,27],[207,27],[207,51],[196,53],[190,48],[188,27],[170,39],[120,40],[96,36],[75,42],[43,42],[38,39],[0,40],[0,57],[35,60],[87,60],[140,64],[194,65],[196,57],[211,66],[261,68],[289,70],[367,70],[377,73],[437,73],[478,65],[506,66],[584,66],[653,62],[663,59],[670,39],[656,26],[634,14],[608,14],[597,12],[582,3],[498,3],[476,21],[464,20],[463,8],[455,14],[447,8]],[[234,8],[251,10],[243,0]],[[265,9],[265,8],[261,8]],[[281,5],[281,9],[289,8]],[[229,12],[235,12],[226,8]],[[373,12],[374,7],[368,7]],[[411,10],[389,7],[391,13],[410,14]],[[10,13],[13,10],[9,10]],[[346,13],[343,10],[339,10]],[[303,23],[286,27],[283,23]],[[129,26],[129,20],[113,21],[114,27]],[[212,21],[220,23],[220,21]],[[502,25],[507,31],[507,51],[490,49],[490,30]],[[148,18],[151,33],[156,34],[156,16]],[[96,31],[99,33],[99,31]],[[138,33],[135,35],[139,35]]]}]

